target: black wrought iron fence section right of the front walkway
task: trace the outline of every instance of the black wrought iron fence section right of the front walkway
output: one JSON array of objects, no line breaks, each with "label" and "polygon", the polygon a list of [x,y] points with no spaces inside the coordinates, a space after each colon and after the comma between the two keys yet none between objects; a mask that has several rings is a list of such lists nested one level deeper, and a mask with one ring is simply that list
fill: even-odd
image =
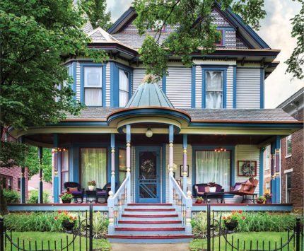
[{"label": "black wrought iron fence section right of the front walkway", "polygon": [[[210,202],[207,204],[207,231],[206,242],[199,250],[216,251],[216,250],[242,250],[242,251],[303,251],[303,222],[296,218],[293,230],[286,233],[286,240],[283,237],[279,242],[270,242],[265,240],[242,240],[235,238],[233,234],[228,234],[228,230],[223,226],[221,216],[215,218],[214,212],[211,216]],[[250,235],[250,232],[248,232]],[[197,249],[194,249],[197,250]]]}]

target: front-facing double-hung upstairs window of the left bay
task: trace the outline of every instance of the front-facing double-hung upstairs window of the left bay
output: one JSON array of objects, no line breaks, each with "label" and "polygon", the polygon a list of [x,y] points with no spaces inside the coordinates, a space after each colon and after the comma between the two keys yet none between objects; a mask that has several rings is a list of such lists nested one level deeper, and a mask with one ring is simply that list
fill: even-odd
[{"label": "front-facing double-hung upstairs window of the left bay", "polygon": [[84,104],[88,106],[103,105],[103,67],[83,67]]}]

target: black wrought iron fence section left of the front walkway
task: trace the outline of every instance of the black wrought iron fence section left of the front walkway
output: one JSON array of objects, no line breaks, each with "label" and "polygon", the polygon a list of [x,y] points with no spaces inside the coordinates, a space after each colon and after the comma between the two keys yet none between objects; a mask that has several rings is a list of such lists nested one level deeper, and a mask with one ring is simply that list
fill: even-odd
[{"label": "black wrought iron fence section left of the front walkway", "polygon": [[93,214],[93,204],[90,204],[89,211],[85,211],[83,216],[78,215],[78,224],[71,234],[59,240],[41,241],[16,238],[16,233],[6,230],[4,218],[0,218],[0,251],[109,250],[98,246],[98,241],[93,243],[93,240],[97,240],[93,234]]}]

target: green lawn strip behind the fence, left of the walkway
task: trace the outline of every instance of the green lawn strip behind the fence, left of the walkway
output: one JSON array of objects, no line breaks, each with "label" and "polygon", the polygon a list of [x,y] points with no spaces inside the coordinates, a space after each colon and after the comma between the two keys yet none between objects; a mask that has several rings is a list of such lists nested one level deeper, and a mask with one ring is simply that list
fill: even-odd
[{"label": "green lawn strip behind the fence, left of the walkway", "polygon": [[[10,235],[9,232],[7,232]],[[71,243],[73,235],[65,234],[65,233],[56,233],[56,232],[13,232],[13,242],[17,244],[18,238],[20,246],[23,247],[23,240],[24,240],[24,247],[25,249],[35,250],[35,240],[37,241],[37,250],[42,249],[42,240],[43,240],[43,247],[45,250],[49,248],[51,250],[55,250],[55,243],[56,243],[56,250],[61,250],[61,243],[62,247],[66,246],[66,236],[68,237],[68,243]],[[81,243],[79,243],[79,236],[76,237],[76,240],[73,244],[69,246],[69,250],[86,250],[86,238],[81,238]],[[49,247],[48,241],[49,240]],[[29,245],[30,242],[30,245]],[[81,247],[81,248],[80,248]],[[110,243],[107,240],[100,240],[94,239],[93,240],[93,249],[94,250],[110,250]],[[11,249],[11,245],[6,240],[6,249],[7,251],[17,251],[16,247]],[[67,249],[64,249],[67,250]]]}]

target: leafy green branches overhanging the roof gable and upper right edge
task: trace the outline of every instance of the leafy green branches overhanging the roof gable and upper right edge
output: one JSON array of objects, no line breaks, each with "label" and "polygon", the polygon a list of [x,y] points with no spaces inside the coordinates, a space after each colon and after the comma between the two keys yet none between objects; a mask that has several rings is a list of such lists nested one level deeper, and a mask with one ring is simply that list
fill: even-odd
[{"label": "leafy green branches overhanging the roof gable and upper right edge", "polygon": [[[247,25],[259,30],[259,20],[266,16],[264,0],[217,0],[223,11],[231,8],[240,14]],[[294,0],[293,0],[294,1]],[[303,3],[303,0],[298,0]],[[146,36],[139,49],[141,61],[147,74],[160,78],[167,73],[168,52],[180,56],[182,63],[192,66],[190,55],[201,50],[202,55],[214,52],[214,42],[219,33],[212,24],[211,11],[214,0],[134,0],[138,14],[134,21],[140,35],[146,35],[147,30],[155,30],[153,37]],[[304,8],[304,7],[303,7]],[[293,37],[298,38],[298,47],[288,59],[288,72],[298,78],[303,78],[303,23],[304,11],[293,18]],[[179,24],[175,32],[162,39],[161,33],[165,25]],[[301,57],[302,55],[302,57]]]}]

